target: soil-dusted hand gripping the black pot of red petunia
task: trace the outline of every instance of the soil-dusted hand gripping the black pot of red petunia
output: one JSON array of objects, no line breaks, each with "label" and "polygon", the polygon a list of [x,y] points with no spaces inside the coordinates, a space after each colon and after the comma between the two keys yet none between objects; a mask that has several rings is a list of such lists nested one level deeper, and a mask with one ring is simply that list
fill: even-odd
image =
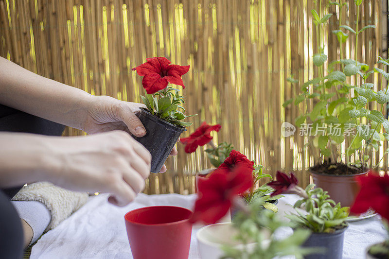
[{"label": "soil-dusted hand gripping the black pot of red petunia", "polygon": [[[119,101],[109,96],[93,96],[89,98],[87,116],[82,125],[82,130],[88,134],[123,130],[137,137],[146,134],[142,122],[135,115],[144,104]],[[170,155],[177,155],[176,147]],[[164,165],[160,173],[166,172]]]}]

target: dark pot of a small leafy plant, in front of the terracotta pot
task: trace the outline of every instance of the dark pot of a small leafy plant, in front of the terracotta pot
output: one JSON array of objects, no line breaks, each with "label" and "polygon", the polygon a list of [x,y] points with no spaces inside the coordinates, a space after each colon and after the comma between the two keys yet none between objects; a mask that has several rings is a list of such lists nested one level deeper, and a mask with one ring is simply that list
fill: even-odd
[{"label": "dark pot of a small leafy plant, in front of the terracotta pot", "polygon": [[302,246],[323,247],[325,251],[307,255],[304,259],[342,259],[344,231],[347,227],[338,229],[334,233],[312,233]]}]

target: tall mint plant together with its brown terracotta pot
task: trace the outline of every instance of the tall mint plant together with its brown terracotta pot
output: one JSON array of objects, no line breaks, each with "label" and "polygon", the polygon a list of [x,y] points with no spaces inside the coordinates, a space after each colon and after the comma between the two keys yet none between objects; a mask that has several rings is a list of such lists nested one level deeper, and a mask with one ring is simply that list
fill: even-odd
[{"label": "tall mint plant together with its brown terracotta pot", "polygon": [[[361,2],[354,0],[357,10],[355,28],[340,25],[338,30],[333,31],[340,45],[346,42],[350,34],[354,34],[354,46],[358,46],[358,36],[375,27],[367,25],[358,28]],[[341,21],[347,2],[340,0],[330,4],[338,6]],[[329,62],[325,69],[327,55],[321,36],[331,16],[324,14],[321,4],[318,5],[318,11],[312,10],[318,49],[312,61],[317,77],[303,83],[294,98],[287,100],[283,106],[293,103],[301,109],[295,125],[300,127],[301,134],[311,138],[307,145],[311,154],[316,156],[317,164],[310,168],[316,186],[327,190],[332,199],[342,206],[351,206],[358,192],[355,176],[367,173],[370,152],[377,151],[382,142],[389,139],[387,133],[380,133],[382,127],[389,132],[389,121],[382,114],[383,104],[389,101],[388,87],[381,84],[379,91],[375,92],[373,84],[368,81],[374,72],[380,73],[382,79],[387,80],[389,74],[378,67],[371,70],[367,64],[357,61],[358,48],[355,49],[354,59],[344,59],[340,48],[340,59]],[[380,57],[378,65],[388,66],[389,63]],[[350,77],[354,77],[355,84],[348,83],[347,78]],[[292,77],[288,81],[298,83]],[[313,104],[311,110],[306,108],[308,104]],[[380,108],[371,109],[380,104]]]}]

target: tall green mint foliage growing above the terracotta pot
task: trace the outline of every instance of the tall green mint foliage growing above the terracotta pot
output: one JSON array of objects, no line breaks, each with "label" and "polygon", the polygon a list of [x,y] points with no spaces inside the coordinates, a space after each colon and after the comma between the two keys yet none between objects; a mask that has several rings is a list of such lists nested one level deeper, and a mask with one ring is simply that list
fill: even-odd
[{"label": "tall green mint foliage growing above the terracotta pot", "polygon": [[[329,3],[338,6],[340,16],[342,14],[345,16],[345,12],[348,12],[346,1],[330,1]],[[357,12],[359,12],[361,3],[362,0],[354,0]],[[314,138],[314,141],[309,141],[308,145],[319,148],[325,158],[332,156],[332,160],[336,161],[341,156],[339,154],[341,149],[336,146],[346,138],[346,162],[350,165],[351,155],[357,151],[359,151],[361,162],[366,162],[364,158],[368,157],[367,152],[372,148],[377,150],[383,141],[388,141],[382,134],[382,138],[379,138],[381,129],[384,129],[383,133],[389,133],[389,121],[382,114],[385,104],[389,102],[388,86],[378,87],[378,91],[374,91],[374,85],[367,81],[373,82],[373,76],[371,76],[373,73],[378,73],[382,79],[389,81],[389,73],[385,71],[385,66],[389,67],[389,60],[379,57],[377,66],[370,69],[367,64],[356,60],[357,50],[354,59],[344,59],[342,49],[340,49],[340,59],[328,61],[323,52],[325,48],[322,45],[321,35],[325,34],[325,26],[332,17],[330,14],[320,17],[322,10],[312,9],[311,13],[316,26],[318,50],[318,53],[312,56],[312,63],[316,67],[315,74],[318,76],[304,83],[301,82],[300,87],[297,87],[298,80],[293,77],[288,78],[288,82],[296,85],[292,86],[296,91],[294,97],[288,99],[283,106],[294,104],[299,107],[301,114],[296,117],[295,125],[297,127],[308,123],[312,125],[310,138]],[[359,18],[358,15],[356,17]],[[350,34],[355,35],[353,40],[355,40],[354,45],[357,46],[358,35],[375,28],[371,24],[358,29],[358,20],[353,28],[350,25],[354,24],[354,21],[348,24],[341,24],[337,30],[332,31],[340,46],[350,39]],[[348,83],[351,82],[350,78],[354,78],[353,82],[358,82],[358,84],[350,85]],[[374,110],[371,107],[380,107],[380,109]],[[337,133],[340,133],[340,136],[331,131],[331,124],[338,125]],[[345,135],[350,124],[354,124],[354,130],[351,134]],[[319,127],[322,130],[318,131]],[[355,129],[364,132],[358,134]],[[365,141],[361,142],[360,139]]]}]

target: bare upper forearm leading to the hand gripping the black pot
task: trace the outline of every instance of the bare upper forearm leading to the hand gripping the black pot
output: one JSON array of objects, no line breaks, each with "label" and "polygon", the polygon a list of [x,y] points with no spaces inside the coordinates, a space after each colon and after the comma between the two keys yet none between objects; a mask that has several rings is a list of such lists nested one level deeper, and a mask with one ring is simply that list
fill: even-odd
[{"label": "bare upper forearm leading to the hand gripping the black pot", "polygon": [[0,104],[77,129],[92,95],[39,76],[0,57]]}]

